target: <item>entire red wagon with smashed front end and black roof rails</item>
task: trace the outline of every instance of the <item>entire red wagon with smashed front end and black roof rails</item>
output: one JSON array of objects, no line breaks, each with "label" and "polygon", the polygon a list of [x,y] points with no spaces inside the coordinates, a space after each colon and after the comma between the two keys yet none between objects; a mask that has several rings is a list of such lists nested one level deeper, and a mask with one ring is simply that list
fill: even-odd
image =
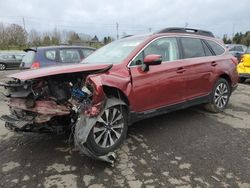
[{"label": "entire red wagon with smashed front end and black roof rails", "polygon": [[102,158],[121,145],[128,125],[189,106],[220,112],[237,87],[237,60],[209,31],[167,28],[114,41],[81,64],[10,75],[14,131],[69,129],[85,154]]}]

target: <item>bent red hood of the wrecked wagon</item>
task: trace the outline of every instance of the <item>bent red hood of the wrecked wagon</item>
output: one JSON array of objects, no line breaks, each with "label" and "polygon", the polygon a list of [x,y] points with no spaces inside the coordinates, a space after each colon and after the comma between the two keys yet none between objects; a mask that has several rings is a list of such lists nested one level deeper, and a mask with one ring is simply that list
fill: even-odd
[{"label": "bent red hood of the wrecked wagon", "polygon": [[35,78],[66,73],[105,71],[106,69],[109,70],[111,67],[112,64],[71,64],[21,71],[16,74],[8,75],[8,77],[17,78],[19,80],[31,80]]}]

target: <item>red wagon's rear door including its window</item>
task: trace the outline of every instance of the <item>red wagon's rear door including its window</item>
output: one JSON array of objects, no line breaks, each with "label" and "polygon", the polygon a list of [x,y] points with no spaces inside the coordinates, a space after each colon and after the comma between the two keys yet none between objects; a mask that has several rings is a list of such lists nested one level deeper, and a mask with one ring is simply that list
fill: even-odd
[{"label": "red wagon's rear door including its window", "polygon": [[213,88],[211,78],[216,66],[215,58],[205,44],[198,38],[181,37],[183,54],[183,73],[187,88],[186,98],[194,99],[207,95]]}]

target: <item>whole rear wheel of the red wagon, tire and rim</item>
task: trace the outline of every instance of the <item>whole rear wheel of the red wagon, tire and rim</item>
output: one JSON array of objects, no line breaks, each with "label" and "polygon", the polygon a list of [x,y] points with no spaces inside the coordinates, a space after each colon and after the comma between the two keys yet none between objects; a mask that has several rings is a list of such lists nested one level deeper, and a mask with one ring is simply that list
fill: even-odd
[{"label": "whole rear wheel of the red wagon, tire and rim", "polygon": [[224,78],[220,78],[214,86],[211,102],[205,104],[204,107],[209,112],[221,112],[227,107],[230,96],[231,88],[228,81]]}]

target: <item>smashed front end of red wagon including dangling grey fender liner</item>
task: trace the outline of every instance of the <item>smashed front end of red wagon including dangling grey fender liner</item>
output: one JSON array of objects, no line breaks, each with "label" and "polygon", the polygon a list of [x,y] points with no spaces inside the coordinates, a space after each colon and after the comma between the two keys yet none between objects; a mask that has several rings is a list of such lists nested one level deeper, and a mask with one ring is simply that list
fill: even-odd
[{"label": "smashed front end of red wagon including dangling grey fender liner", "polygon": [[77,148],[93,158],[114,161],[114,153],[95,153],[85,146],[88,135],[100,120],[105,107],[125,105],[110,99],[89,74],[60,74],[21,81],[12,79],[0,86],[10,115],[3,115],[6,128],[16,132],[73,133]]}]

